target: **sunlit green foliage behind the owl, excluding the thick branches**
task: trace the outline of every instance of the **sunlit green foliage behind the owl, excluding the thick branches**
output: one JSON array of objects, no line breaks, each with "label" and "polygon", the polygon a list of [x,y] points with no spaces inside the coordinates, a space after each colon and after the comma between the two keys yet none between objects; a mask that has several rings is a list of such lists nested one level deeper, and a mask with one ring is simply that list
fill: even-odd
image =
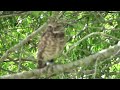
[{"label": "sunlit green foliage behind the owl, excluding the thick branches", "polygon": [[[0,57],[45,23],[51,14],[51,11],[33,11],[26,15],[0,18]],[[68,23],[65,27],[68,42],[62,56],[57,58],[55,63],[70,63],[115,45],[120,40],[119,17],[119,12],[110,11],[64,12],[61,18]],[[75,45],[85,36],[95,32],[103,32],[117,39],[102,34],[93,34]],[[0,76],[36,68],[36,51],[41,33],[31,38],[28,43],[11,53],[6,60],[0,63]],[[72,46],[75,47],[71,49]],[[104,61],[92,63],[87,67],[77,67],[71,72],[60,73],[51,78],[119,78],[119,61],[119,56],[113,55]]]}]

